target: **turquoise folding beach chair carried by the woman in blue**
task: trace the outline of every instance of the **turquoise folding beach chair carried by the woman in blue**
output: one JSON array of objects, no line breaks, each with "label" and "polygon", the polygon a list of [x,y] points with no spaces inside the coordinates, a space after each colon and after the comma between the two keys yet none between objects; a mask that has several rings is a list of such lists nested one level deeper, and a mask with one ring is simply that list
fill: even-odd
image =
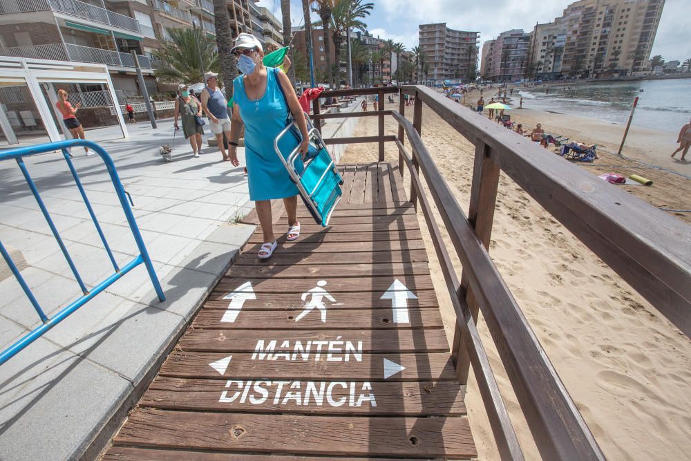
[{"label": "turquoise folding beach chair carried by the woman in blue", "polygon": [[305,207],[317,224],[326,227],[336,205],[341,200],[343,178],[337,169],[336,159],[326,148],[319,130],[314,128],[310,116],[305,113],[310,149],[303,161],[298,151],[302,135],[296,122],[292,122],[278,133],[274,150],[290,179],[300,191]]}]

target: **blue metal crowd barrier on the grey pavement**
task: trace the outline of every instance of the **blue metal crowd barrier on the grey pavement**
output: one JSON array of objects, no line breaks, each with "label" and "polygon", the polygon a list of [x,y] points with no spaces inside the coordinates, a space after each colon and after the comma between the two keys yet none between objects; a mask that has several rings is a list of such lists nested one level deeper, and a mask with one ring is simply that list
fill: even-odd
[{"label": "blue metal crowd barrier on the grey pavement", "polygon": [[[82,181],[79,180],[77,170],[75,169],[74,164],[70,159],[70,154],[68,153],[68,149],[72,147],[88,147],[88,149],[91,149],[91,151],[97,153],[101,157],[103,162],[106,164],[108,173],[110,174],[111,180],[113,181],[113,187],[115,187],[115,193],[117,194],[118,200],[120,200],[120,206],[122,206],[122,210],[124,211],[125,217],[127,218],[127,223],[129,223],[129,227],[132,230],[132,235],[135,239],[135,242],[137,243],[137,247],[140,252],[140,254],[135,256],[135,258],[132,261],[126,263],[123,267],[117,266],[115,258],[113,257],[113,252],[111,252],[111,247],[108,246],[106,236],[104,236],[101,226],[99,225],[98,220],[96,219],[96,215],[93,212],[93,208],[91,207],[91,203],[86,197],[86,191],[84,191]],[[26,164],[23,161],[24,157],[34,156],[39,153],[46,153],[51,151],[62,151],[62,154],[65,158],[65,161],[67,162],[70,172],[72,173],[73,178],[75,178],[77,189],[79,189],[79,194],[81,194],[82,198],[84,199],[86,209],[88,210],[88,213],[91,216],[91,219],[93,220],[93,223],[96,227],[96,231],[98,232],[101,241],[103,242],[103,245],[105,247],[106,253],[108,253],[108,258],[110,258],[111,263],[113,264],[113,270],[115,270],[113,274],[106,277],[104,281],[101,281],[100,283],[95,285],[93,288],[91,288],[91,290],[89,290],[86,287],[84,281],[82,281],[82,277],[79,276],[79,271],[77,271],[77,267],[75,266],[75,263],[72,261],[67,247],[62,242],[62,238],[60,238],[60,234],[57,230],[57,227],[55,227],[53,219],[50,218],[50,214],[48,214],[48,209],[46,209],[46,205],[44,204],[44,201],[41,199],[39,191],[36,188],[36,185],[34,184],[33,180],[31,179]],[[53,236],[55,236],[55,240],[57,241],[57,244],[59,245],[62,254],[65,256],[65,259],[67,260],[67,263],[70,266],[70,269],[72,270],[75,279],[77,279],[79,287],[82,288],[82,292],[84,293],[84,295],[82,297],[79,297],[79,299],[77,299],[76,301],[73,301],[73,303],[70,303],[70,305],[60,310],[60,312],[57,312],[57,314],[55,314],[53,317],[48,318],[44,311],[41,309],[41,306],[34,297],[30,288],[26,284],[26,281],[24,281],[23,277],[19,273],[17,265],[15,265],[15,262],[12,261],[9,252],[6,250],[6,248],[0,241],[0,254],[2,254],[6,263],[10,267],[10,271],[12,271],[12,274],[17,279],[17,282],[19,282],[19,285],[21,285],[22,290],[26,293],[26,296],[28,297],[29,301],[31,302],[37,314],[39,314],[41,321],[43,322],[43,325],[35,328],[35,330],[32,330],[27,335],[24,335],[21,339],[19,339],[19,341],[15,342],[15,344],[12,344],[12,346],[0,352],[0,365],[4,364],[6,361],[17,355],[19,351],[21,351],[23,348],[26,348],[26,346],[28,346],[33,341],[41,337],[41,335],[50,330],[50,328],[56,326],[70,314],[75,312],[75,310],[81,308],[82,305],[86,304],[97,294],[99,294],[100,292],[108,288],[110,285],[112,285],[115,281],[120,279],[120,277],[124,276],[124,274],[130,272],[131,270],[133,270],[133,268],[137,267],[142,263],[144,263],[144,265],[146,266],[146,270],[149,272],[149,277],[151,278],[151,283],[153,283],[153,288],[156,290],[156,294],[158,294],[158,299],[160,299],[160,301],[165,301],[165,296],[163,294],[161,284],[159,283],[158,277],[156,276],[156,272],[153,269],[153,263],[151,263],[151,258],[149,258],[149,252],[146,251],[146,245],[144,245],[144,241],[142,240],[142,234],[139,231],[139,227],[137,226],[137,223],[135,221],[134,214],[132,213],[132,208],[130,207],[130,203],[128,202],[128,194],[122,187],[120,177],[117,176],[117,171],[115,170],[115,164],[113,164],[113,159],[111,159],[111,156],[108,155],[105,149],[100,147],[95,142],[91,141],[67,140],[59,142],[50,142],[48,144],[37,144],[35,146],[29,147],[20,147],[18,149],[10,149],[8,151],[0,152],[0,161],[10,159],[15,159],[15,161],[19,165],[19,169],[21,170],[21,173],[26,179],[31,193],[33,194],[34,198],[36,198],[36,202],[38,203],[41,212],[46,218],[48,226],[50,227],[50,231],[53,232]]]}]

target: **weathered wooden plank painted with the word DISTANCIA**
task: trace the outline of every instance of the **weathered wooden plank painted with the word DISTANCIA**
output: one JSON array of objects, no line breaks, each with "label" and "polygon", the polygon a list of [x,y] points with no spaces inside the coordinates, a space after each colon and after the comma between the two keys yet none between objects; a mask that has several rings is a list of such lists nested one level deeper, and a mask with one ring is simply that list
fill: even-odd
[{"label": "weathered wooden plank painted with the word DISTANCIA", "polygon": [[[271,380],[253,380],[258,382],[262,391],[268,391],[265,402],[259,403],[256,398],[261,398],[262,391],[248,393],[247,397],[236,398],[233,402],[227,402],[228,398],[220,399],[224,391],[231,395],[236,391],[238,384],[233,383],[227,387],[225,379],[184,379],[173,377],[157,377],[149,386],[139,402],[139,406],[160,408],[163,410],[195,410],[195,411],[245,411],[252,413],[301,413],[308,415],[395,415],[395,416],[460,416],[466,414],[463,403],[461,387],[455,382],[375,382],[371,383],[371,392],[375,402],[362,402],[360,406],[351,405],[350,402],[341,405],[332,405],[328,402],[315,402],[307,396],[305,401],[305,386],[307,382],[298,382],[301,391],[301,404],[296,399],[285,399],[287,385],[283,387],[283,393],[279,393],[276,402],[276,384]],[[270,383],[270,384],[269,384]],[[329,382],[312,382],[316,389],[321,391],[329,386]],[[245,381],[243,385],[249,384]],[[350,398],[350,383],[346,387],[331,386],[330,397],[341,402]],[[363,388],[363,382],[354,382],[352,386],[358,398]],[[226,394],[226,395],[227,395]],[[285,403],[283,403],[285,399]]]}]

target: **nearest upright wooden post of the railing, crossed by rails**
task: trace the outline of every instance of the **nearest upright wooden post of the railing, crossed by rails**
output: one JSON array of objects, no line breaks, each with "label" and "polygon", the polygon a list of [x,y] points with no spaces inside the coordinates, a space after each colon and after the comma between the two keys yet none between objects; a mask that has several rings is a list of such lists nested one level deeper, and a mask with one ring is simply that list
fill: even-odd
[{"label": "nearest upright wooden post of the railing, crossed by rails", "polygon": [[[468,207],[468,222],[475,229],[475,234],[482,245],[489,251],[489,242],[492,236],[492,223],[494,221],[494,207],[497,201],[497,189],[499,187],[499,167],[489,158],[489,147],[480,141],[475,146],[475,165],[473,167],[473,184],[471,185],[471,200]],[[461,288],[458,293],[466,294],[466,303],[477,322],[479,306],[473,296],[473,291],[468,287],[468,277],[461,275]],[[461,384],[468,382],[468,368],[470,357],[463,347],[461,330],[456,326],[453,333],[453,348],[451,358],[456,365],[456,376]]]}]

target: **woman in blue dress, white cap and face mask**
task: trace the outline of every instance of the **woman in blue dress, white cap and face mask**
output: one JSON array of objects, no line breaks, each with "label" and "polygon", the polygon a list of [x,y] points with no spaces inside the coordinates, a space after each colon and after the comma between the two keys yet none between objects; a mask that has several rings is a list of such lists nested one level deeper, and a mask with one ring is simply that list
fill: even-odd
[{"label": "woman in blue dress, white cap and face mask", "polygon": [[[294,241],[300,235],[300,223],[296,217],[299,192],[274,151],[274,140],[285,129],[290,110],[302,133],[303,141],[299,149],[305,156],[309,147],[307,122],[287,75],[283,70],[263,65],[261,41],[254,35],[240,34],[231,53],[238,56],[238,68],[243,75],[233,82],[233,122],[228,142],[229,153],[233,164],[237,164],[238,139],[244,125],[249,199],[254,201],[264,234],[259,258],[266,259],[276,250],[271,200],[283,199],[288,216],[286,239]],[[290,137],[286,136],[281,141],[290,143]],[[289,145],[281,148],[281,152],[286,154],[291,150]]]}]

